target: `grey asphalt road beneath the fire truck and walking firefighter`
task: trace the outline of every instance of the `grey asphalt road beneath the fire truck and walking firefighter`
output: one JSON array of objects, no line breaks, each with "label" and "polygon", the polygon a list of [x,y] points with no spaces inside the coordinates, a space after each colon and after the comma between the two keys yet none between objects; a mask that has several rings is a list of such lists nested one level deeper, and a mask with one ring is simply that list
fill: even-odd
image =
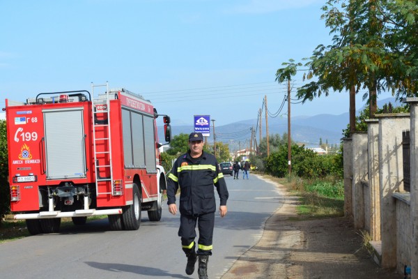
[{"label": "grey asphalt road beneath the fire truck and walking firefighter", "polygon": [[[281,206],[273,184],[226,176],[229,212],[215,217],[210,278],[221,278],[261,238],[265,220]],[[217,201],[219,205],[219,200]],[[0,278],[198,278],[185,274],[177,235],[179,216],[164,205],[161,222],[142,212],[138,231],[109,231],[107,218],[59,234],[40,234],[0,244]]]}]

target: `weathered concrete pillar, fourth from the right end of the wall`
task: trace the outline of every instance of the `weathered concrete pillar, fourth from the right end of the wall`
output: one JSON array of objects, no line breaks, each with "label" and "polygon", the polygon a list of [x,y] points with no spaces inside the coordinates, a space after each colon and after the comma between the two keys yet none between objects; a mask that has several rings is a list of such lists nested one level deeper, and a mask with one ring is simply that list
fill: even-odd
[{"label": "weathered concrete pillar, fourth from the right end of the wall", "polygon": [[364,193],[367,180],[367,134],[353,133],[353,221],[356,229],[364,228]]}]

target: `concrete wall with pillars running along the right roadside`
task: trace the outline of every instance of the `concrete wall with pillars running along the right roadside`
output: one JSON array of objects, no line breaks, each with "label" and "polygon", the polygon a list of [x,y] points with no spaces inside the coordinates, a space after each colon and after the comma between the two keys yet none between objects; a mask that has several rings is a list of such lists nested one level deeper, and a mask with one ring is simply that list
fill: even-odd
[{"label": "concrete wall with pillars running along the right roadside", "polygon": [[[367,121],[366,144],[359,133],[344,141],[345,210],[355,228],[371,233],[382,267],[403,274],[408,265],[411,278],[418,279],[418,98],[407,101],[410,114],[378,114],[378,121]],[[404,130],[410,130],[410,193],[403,190]]]}]

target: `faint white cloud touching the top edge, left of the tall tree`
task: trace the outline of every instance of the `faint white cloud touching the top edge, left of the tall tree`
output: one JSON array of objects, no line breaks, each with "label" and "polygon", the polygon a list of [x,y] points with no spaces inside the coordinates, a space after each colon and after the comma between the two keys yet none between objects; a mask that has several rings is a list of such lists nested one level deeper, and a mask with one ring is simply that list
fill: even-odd
[{"label": "faint white cloud touching the top edge, left of the tall tree", "polygon": [[235,6],[229,13],[273,13],[278,10],[303,8],[314,3],[323,3],[323,0],[249,0],[247,3]]}]

